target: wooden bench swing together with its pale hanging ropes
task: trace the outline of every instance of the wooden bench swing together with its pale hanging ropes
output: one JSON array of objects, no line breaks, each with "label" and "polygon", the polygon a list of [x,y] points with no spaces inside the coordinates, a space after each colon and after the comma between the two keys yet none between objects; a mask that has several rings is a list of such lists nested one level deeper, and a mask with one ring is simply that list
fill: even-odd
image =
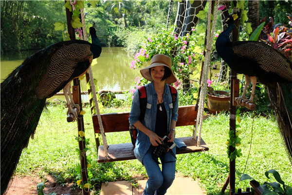
[{"label": "wooden bench swing together with its pale hanging ropes", "polygon": [[[211,4],[209,7],[211,7]],[[219,3],[217,3],[217,8]],[[209,9],[211,10],[211,8]],[[217,11],[215,13],[215,19],[212,26],[212,32],[210,31],[210,23],[211,23],[211,12],[208,12],[208,30],[207,30],[207,38],[206,38],[206,54],[205,54],[205,63],[203,63],[203,69],[201,72],[201,93],[199,97],[206,96],[206,88],[207,88],[207,77],[208,77],[208,66],[210,64],[211,57],[211,47],[213,35],[215,33],[215,24],[216,24],[216,16]],[[210,35],[211,33],[211,35]],[[121,112],[121,113],[110,113],[110,114],[100,114],[98,109],[98,102],[96,99],[95,87],[93,84],[92,73],[91,76],[91,86],[92,86],[92,94],[95,101],[95,109],[96,115],[92,116],[93,129],[94,134],[101,134],[103,145],[99,145],[99,137],[95,138],[96,148],[98,151],[98,162],[112,162],[112,161],[120,161],[120,160],[130,160],[135,159],[133,149],[134,146],[132,143],[121,143],[121,144],[107,144],[107,139],[105,133],[111,132],[123,132],[129,130],[129,112]],[[194,152],[203,152],[209,150],[208,146],[201,138],[201,126],[202,126],[202,118],[203,118],[203,108],[204,108],[204,100],[205,98],[200,98],[199,105],[188,105],[188,106],[180,106],[178,111],[178,121],[176,126],[188,126],[194,125],[195,131],[194,135],[191,137],[181,137],[183,142],[186,144],[185,149],[177,149],[177,154],[185,154],[185,153],[194,153]],[[199,121],[199,123],[197,122]],[[200,126],[198,126],[200,124]],[[199,127],[199,134],[197,136],[197,129]]]}]

